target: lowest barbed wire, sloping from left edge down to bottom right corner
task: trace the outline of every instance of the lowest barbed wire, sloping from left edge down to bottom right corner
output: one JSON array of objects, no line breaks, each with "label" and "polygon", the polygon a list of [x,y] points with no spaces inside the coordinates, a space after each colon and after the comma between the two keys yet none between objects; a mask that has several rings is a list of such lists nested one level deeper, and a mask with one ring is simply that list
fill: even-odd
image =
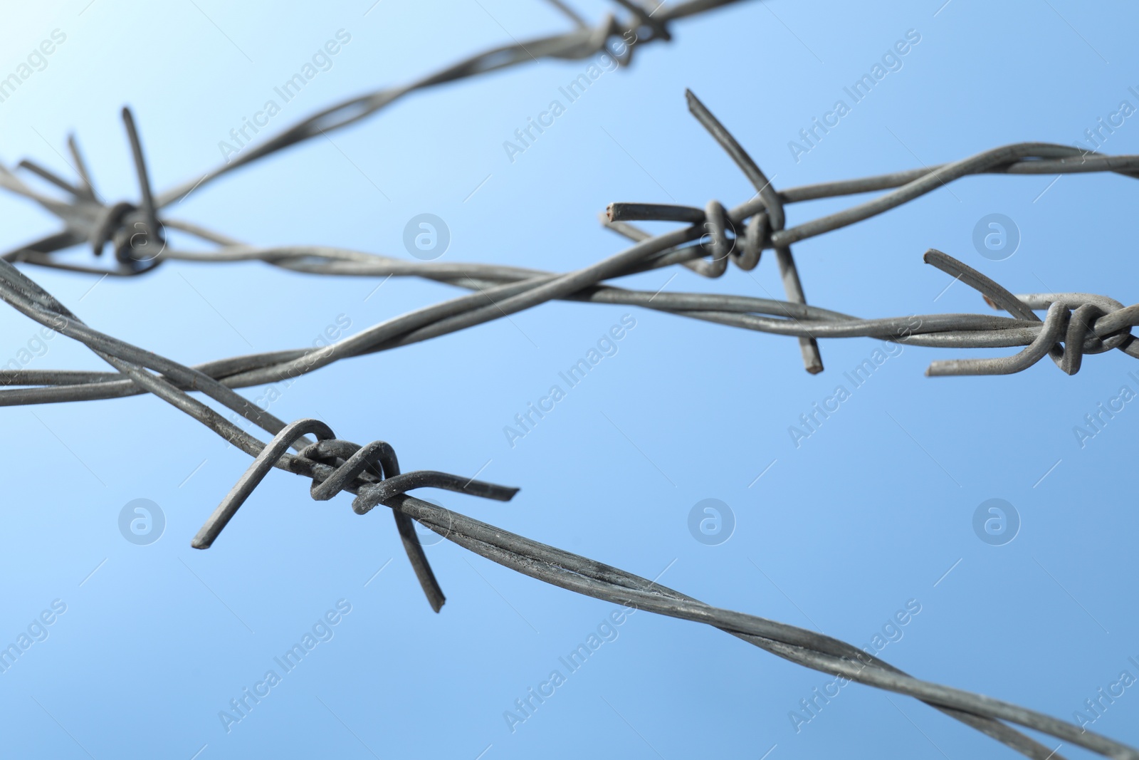
[{"label": "lowest barbed wire, sloping from left edge down to bottom right corner", "polygon": [[[415,472],[400,475],[394,451],[382,441],[359,447],[336,439],[331,428],[317,419],[301,419],[286,425],[197,370],[91,329],[49,293],[2,261],[0,299],[32,319],[84,343],[112,367],[128,375],[138,390],[154,393],[186,411],[254,457],[252,466],[194,538],[191,546],[195,548],[211,546],[269,469],[277,467],[309,477],[312,481],[310,493],[318,500],[344,490],[357,495],[353,509],[359,514],[367,513],[378,504],[390,507],[396,516],[401,538],[420,585],[436,611],[443,604],[443,595],[423,555],[423,548],[415,538],[415,531],[410,528],[412,520],[480,556],[554,586],[657,614],[714,626],[797,664],[912,696],[1036,760],[1059,755],[1013,725],[1042,732],[1105,757],[1139,760],[1139,751],[1099,734],[1085,732],[1073,724],[1000,700],[913,678],[838,639],[756,615],[713,607],[632,573],[408,496],[407,491],[411,489],[433,487],[505,501],[514,497],[516,489],[477,481],[462,484],[461,479],[444,473]],[[1050,309],[1059,310],[1063,305],[1055,302]],[[161,371],[163,375],[155,376],[151,371]],[[267,444],[243,432],[211,407],[173,384],[186,384],[190,379],[195,381],[190,387],[200,390],[215,401],[240,412],[262,430],[272,433],[272,440]],[[308,441],[305,435],[309,434],[316,435],[318,440]],[[296,455],[288,453],[289,448],[298,447],[302,448]],[[379,472],[369,472],[368,468],[377,464]],[[413,541],[413,547],[409,545],[409,539]]]}]

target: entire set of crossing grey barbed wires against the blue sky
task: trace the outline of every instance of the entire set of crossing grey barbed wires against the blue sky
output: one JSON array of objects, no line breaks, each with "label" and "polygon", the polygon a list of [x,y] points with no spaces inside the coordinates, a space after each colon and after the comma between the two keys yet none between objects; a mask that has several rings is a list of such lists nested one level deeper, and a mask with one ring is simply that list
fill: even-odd
[{"label": "entire set of crossing grey barbed wires against the blue sky", "polygon": [[[934,361],[929,375],[1007,374],[1025,369],[1046,354],[1067,374],[1075,374],[1088,353],[1117,349],[1139,358],[1139,345],[1130,333],[1139,325],[1139,305],[1124,307],[1113,299],[1084,293],[1031,293],[1014,295],[980,271],[952,256],[929,250],[925,261],[978,291],[991,307],[1009,317],[992,314],[925,314],[862,319],[806,304],[792,255],[793,243],[833,231],[908,203],[948,182],[978,173],[1043,174],[1111,171],[1139,178],[1139,156],[1107,156],[1066,146],[1024,142],[986,150],[965,160],[855,180],[776,190],[730,132],[691,93],[690,111],[724,148],[755,187],[745,203],[726,209],[718,201],[705,207],[661,204],[612,204],[603,223],[633,240],[624,251],[590,267],[556,273],[517,267],[477,263],[408,262],[387,256],[327,246],[246,245],[196,223],[169,219],[159,211],[218,177],[263,156],[321,133],[352,124],[418,89],[486,73],[528,59],[584,58],[608,50],[615,35],[645,33],[637,42],[667,40],[667,23],[728,5],[735,0],[690,0],[648,11],[630,0],[620,5],[632,13],[628,22],[608,16],[589,27],[560,0],[551,0],[577,24],[574,31],[499,47],[416,82],[345,100],[326,108],[239,158],[218,167],[194,183],[154,194],[141,141],[129,109],[123,111],[140,187],[138,204],[105,203],[95,190],[73,137],[68,149],[77,183],[30,161],[21,166],[38,174],[68,197],[58,199],[26,186],[0,165],[0,185],[54,213],[64,229],[21,246],[0,258],[0,300],[31,319],[76,340],[116,371],[0,370],[5,385],[24,387],[0,391],[0,406],[107,399],[153,393],[204,424],[241,449],[254,461],[218,509],[203,525],[191,546],[208,548],[235,516],[256,485],[273,468],[312,481],[310,495],[329,499],[341,491],[355,495],[353,509],[366,514],[377,505],[393,510],[396,526],[416,575],[433,610],[445,598],[415,533],[412,520],[459,546],[506,567],[554,586],[634,606],[658,614],[702,622],[772,654],[814,670],[918,698],[950,717],[1038,760],[1060,759],[1013,725],[1041,732],[1105,757],[1139,760],[1139,751],[1073,724],[1007,702],[913,678],[888,663],[838,639],[756,615],[714,607],[587,557],[510,533],[460,513],[440,507],[407,492],[417,488],[442,488],[497,500],[509,500],[517,489],[495,485],[435,471],[400,473],[393,448],[375,441],[360,447],[339,440],[323,422],[301,419],[290,424],[261,409],[233,389],[296,377],[339,359],[383,351],[437,337],[533,308],[551,300],[629,304],[757,332],[797,337],[808,371],[822,370],[818,340],[876,337],[909,345],[936,348],[1026,346],[1011,357]],[[631,59],[615,56],[620,64]],[[890,190],[869,202],[795,227],[786,226],[785,206],[817,198]],[[686,226],[649,235],[633,221],[674,221]],[[166,247],[165,229],[188,232],[216,248],[205,252]],[[737,228],[743,232],[737,234]],[[59,260],[65,248],[90,244],[101,254],[112,243],[116,265],[97,269]],[[609,280],[680,264],[697,275],[715,278],[729,262],[741,270],[754,269],[764,250],[772,248],[786,300],[703,293],[649,293],[616,287]],[[294,271],[334,276],[419,277],[454,285],[469,295],[425,307],[375,325],[323,349],[301,349],[246,354],[187,367],[156,353],[100,333],[41,288],[10,262],[71,269],[103,275],[134,276],[166,260],[227,262],[261,260]],[[1035,311],[1046,311],[1041,319]],[[265,443],[189,394],[197,391],[265,431]],[[308,436],[316,435],[312,441]],[[289,453],[293,449],[296,453]],[[1010,725],[1011,724],[1011,725]]]}]

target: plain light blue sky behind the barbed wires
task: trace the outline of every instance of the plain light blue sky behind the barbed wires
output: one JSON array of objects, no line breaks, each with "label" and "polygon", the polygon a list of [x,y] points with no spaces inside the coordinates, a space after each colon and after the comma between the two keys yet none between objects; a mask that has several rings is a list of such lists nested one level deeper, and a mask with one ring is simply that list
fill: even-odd
[{"label": "plain light blue sky behind the barbed wires", "polygon": [[[69,177],[56,152],[74,130],[103,196],[133,199],[124,104],[165,189],[216,165],[218,141],[339,28],[351,43],[273,128],[511,38],[566,27],[536,0],[383,0],[367,16],[370,0],[320,9],[195,1],[8,3],[0,74],[54,28],[67,39],[0,104],[6,165],[33,157]],[[735,205],[751,196],[688,115],[686,87],[779,188],[1022,140],[1071,145],[1121,100],[1139,106],[1128,91],[1139,88],[1133,8],[941,2],[777,0],[678,23],[673,43],[645,46],[631,70],[605,73],[513,164],[502,141],[585,62],[444,85],[335,133],[335,147],[312,140],[202,188],[170,214],[259,244],[404,256],[404,223],[431,212],[452,234],[443,261],[570,270],[623,247],[596,221],[609,202]],[[591,21],[608,9],[574,6]],[[902,70],[796,163],[787,142],[911,28],[921,41]],[[1104,149],[1139,153],[1137,117]],[[1048,188],[1051,181],[968,178],[798,244],[808,297],[865,317],[985,311],[960,284],[937,299],[950,278],[921,263],[933,246],[1017,293],[1136,301],[1139,185],[1100,174]],[[788,223],[858,199],[794,205]],[[994,212],[1022,234],[1017,253],[1000,262],[972,244],[976,221]],[[56,228],[9,195],[0,214],[5,247]],[[185,363],[309,345],[337,316],[354,333],[457,293],[392,279],[366,301],[378,279],[255,262],[167,263],[90,292],[93,277],[23,269],[93,327]],[[730,269],[711,281],[678,269],[624,283],[781,293],[770,252],[751,275]],[[618,353],[509,448],[502,427],[626,312],[637,327]],[[11,310],[0,312],[0,325],[7,361],[36,328]],[[30,367],[104,368],[66,338],[48,345]],[[1126,406],[1083,449],[1072,430],[1121,385],[1139,390],[1126,375],[1139,365],[1112,352],[1087,358],[1074,377],[1043,361],[1011,377],[926,378],[935,359],[1010,351],[907,348],[796,449],[788,425],[876,346],[825,341],[827,370],[810,376],[793,338],[552,303],[321,369],[271,411],[320,416],[360,443],[390,441],[405,469],[473,475],[485,464],[481,477],[522,488],[513,502],[423,493],[641,575],[667,567],[661,582],[713,604],[818,626],[862,646],[917,599],[920,614],[882,655],[923,678],[1071,720],[1120,671],[1139,676],[1128,663],[1139,659],[1139,518],[1126,485],[1139,410]],[[214,548],[195,551],[189,539],[247,456],[149,397],[8,408],[0,418],[0,639],[15,640],[51,600],[67,605],[49,638],[0,675],[5,757],[1013,757],[920,703],[858,685],[796,734],[788,712],[829,677],[647,613],[621,626],[511,734],[503,711],[613,605],[443,542],[428,548],[448,595],[435,615],[386,510],[361,518],[346,496],[313,502],[305,481],[280,472]],[[154,545],[118,533],[118,512],[136,498],[165,513]],[[688,512],[705,498],[735,513],[735,534],[721,546],[688,532]],[[973,513],[990,498],[1010,501],[1023,521],[1006,546],[973,532]],[[342,598],[352,612],[335,637],[227,734],[218,712]],[[1139,744],[1139,688],[1093,729]]]}]

